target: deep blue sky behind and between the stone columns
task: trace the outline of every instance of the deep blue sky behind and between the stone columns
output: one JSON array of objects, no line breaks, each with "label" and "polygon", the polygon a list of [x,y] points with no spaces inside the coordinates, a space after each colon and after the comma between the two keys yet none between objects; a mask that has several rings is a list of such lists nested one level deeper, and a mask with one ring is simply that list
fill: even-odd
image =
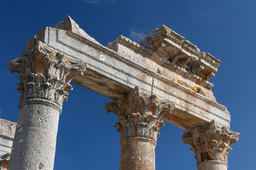
[{"label": "deep blue sky behind and between the stone columns", "polygon": [[[165,25],[210,52],[222,63],[210,82],[218,103],[228,107],[231,130],[241,132],[228,157],[229,169],[255,169],[256,141],[256,1],[124,1],[62,0],[2,1],[0,118],[16,121],[18,74],[7,62],[21,57],[26,42],[45,26],[54,27],[71,16],[80,28],[102,45],[119,35],[139,42]],[[60,115],[56,170],[118,169],[119,133],[117,116],[107,115],[110,98],[73,84]],[[196,169],[189,145],[183,145],[184,130],[166,123],[156,147],[156,169]]]}]

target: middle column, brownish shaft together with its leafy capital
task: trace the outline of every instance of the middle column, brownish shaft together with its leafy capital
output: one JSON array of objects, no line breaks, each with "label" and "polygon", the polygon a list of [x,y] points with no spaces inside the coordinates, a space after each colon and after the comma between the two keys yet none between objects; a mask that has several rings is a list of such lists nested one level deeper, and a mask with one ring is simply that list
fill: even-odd
[{"label": "middle column, brownish shaft together with its leafy capital", "polygon": [[105,104],[107,113],[119,116],[115,127],[120,133],[120,170],[154,170],[156,139],[159,128],[164,126],[160,118],[171,114],[172,103],[160,101],[141,89],[135,88],[126,98]]}]

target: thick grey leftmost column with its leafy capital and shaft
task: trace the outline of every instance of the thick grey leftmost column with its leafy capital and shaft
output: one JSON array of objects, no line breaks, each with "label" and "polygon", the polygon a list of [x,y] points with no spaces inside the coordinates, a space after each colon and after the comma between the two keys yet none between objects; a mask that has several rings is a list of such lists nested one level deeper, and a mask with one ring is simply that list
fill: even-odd
[{"label": "thick grey leftmost column with its leafy capital and shaft", "polygon": [[23,56],[9,62],[18,72],[20,103],[9,170],[53,169],[58,120],[68,99],[70,81],[85,64],[35,42]]}]

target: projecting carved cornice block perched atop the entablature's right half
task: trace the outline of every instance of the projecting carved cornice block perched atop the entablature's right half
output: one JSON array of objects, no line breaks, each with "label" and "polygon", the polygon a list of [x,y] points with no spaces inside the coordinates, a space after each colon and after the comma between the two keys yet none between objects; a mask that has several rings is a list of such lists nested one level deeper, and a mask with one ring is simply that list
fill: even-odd
[{"label": "projecting carved cornice block perched atop the entablature's right half", "polygon": [[220,60],[209,53],[200,52],[196,45],[166,26],[153,30],[139,44],[156,52],[165,62],[168,60],[202,79],[208,80],[218,72]]}]

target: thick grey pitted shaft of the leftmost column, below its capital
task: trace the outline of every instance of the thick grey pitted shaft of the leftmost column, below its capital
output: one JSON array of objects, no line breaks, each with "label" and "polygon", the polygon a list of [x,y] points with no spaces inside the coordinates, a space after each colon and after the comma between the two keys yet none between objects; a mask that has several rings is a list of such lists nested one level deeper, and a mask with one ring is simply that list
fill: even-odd
[{"label": "thick grey pitted shaft of the leftmost column, below its capital", "polygon": [[59,115],[43,102],[21,106],[9,169],[53,169]]}]

